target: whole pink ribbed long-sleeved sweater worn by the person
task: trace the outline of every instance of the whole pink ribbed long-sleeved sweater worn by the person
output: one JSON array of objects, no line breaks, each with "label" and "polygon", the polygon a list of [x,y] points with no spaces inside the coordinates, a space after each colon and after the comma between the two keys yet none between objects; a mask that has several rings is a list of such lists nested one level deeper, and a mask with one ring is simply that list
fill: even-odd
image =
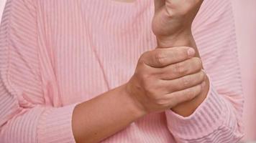
[{"label": "whole pink ribbed long-sleeved sweater worn by the person", "polygon": [[[75,142],[76,104],[127,82],[140,55],[155,48],[153,7],[152,0],[7,0],[0,142]],[[211,83],[196,112],[148,114],[103,142],[238,142],[244,100],[230,1],[205,0],[193,35]]]}]

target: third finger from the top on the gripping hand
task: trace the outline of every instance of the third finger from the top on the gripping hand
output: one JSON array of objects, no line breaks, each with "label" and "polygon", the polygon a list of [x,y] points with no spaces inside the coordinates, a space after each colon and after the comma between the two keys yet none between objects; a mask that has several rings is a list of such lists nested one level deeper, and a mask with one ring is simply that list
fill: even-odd
[{"label": "third finger from the top on the gripping hand", "polygon": [[200,71],[196,74],[189,74],[178,79],[163,81],[163,86],[166,88],[166,90],[168,90],[166,92],[171,93],[201,84],[205,81],[205,79],[206,74],[204,71]]}]

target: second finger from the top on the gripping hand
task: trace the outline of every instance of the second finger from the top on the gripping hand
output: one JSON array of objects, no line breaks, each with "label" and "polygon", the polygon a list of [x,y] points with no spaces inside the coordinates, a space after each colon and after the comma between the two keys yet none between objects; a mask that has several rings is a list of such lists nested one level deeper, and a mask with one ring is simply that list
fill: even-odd
[{"label": "second finger from the top on the gripping hand", "polygon": [[188,74],[194,74],[201,71],[202,68],[203,64],[201,59],[198,57],[193,57],[191,59],[187,59],[186,61],[165,66],[162,69],[158,69],[158,71],[160,73],[160,79],[171,80]]}]

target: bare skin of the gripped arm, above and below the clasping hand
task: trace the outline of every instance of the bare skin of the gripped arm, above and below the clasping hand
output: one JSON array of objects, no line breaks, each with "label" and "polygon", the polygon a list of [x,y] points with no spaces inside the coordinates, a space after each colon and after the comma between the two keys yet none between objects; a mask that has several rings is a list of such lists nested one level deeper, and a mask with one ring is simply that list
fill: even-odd
[{"label": "bare skin of the gripped arm, above and below the clasping hand", "polygon": [[[174,46],[190,46],[200,58],[196,42],[193,39],[191,26],[204,0],[155,0],[155,16],[152,30],[157,36],[158,48]],[[183,102],[172,108],[174,112],[188,117],[204,102],[209,92],[209,79],[205,79],[206,87],[191,101]]]}]

